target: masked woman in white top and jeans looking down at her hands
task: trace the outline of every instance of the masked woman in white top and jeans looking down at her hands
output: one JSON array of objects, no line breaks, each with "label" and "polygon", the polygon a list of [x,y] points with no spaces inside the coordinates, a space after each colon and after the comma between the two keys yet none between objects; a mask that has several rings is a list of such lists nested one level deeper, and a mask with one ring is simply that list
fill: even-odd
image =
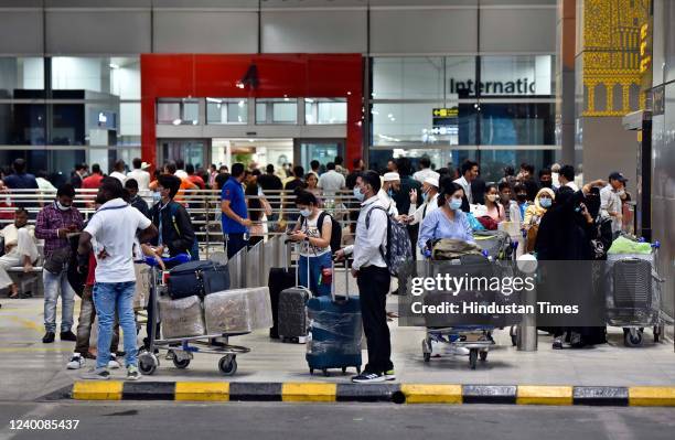
[{"label": "masked woman in white top and jeans looking down at her hands", "polygon": [[[300,243],[300,264],[298,281],[312,291],[314,296],[331,294],[330,283],[320,283],[323,268],[332,268],[331,234],[333,223],[331,217],[319,208],[314,194],[300,191],[296,198],[300,217],[291,232],[290,239]],[[321,222],[320,222],[321,219]],[[309,286],[307,285],[309,270]]]}]

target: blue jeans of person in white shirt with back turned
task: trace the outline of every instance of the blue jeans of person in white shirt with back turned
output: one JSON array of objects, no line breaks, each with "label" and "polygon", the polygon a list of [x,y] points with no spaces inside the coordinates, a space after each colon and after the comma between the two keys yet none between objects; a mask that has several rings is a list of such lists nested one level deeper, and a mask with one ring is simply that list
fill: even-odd
[{"label": "blue jeans of person in white shirt with back turned", "polygon": [[96,367],[105,367],[110,361],[110,341],[115,310],[119,316],[119,326],[124,333],[126,365],[138,366],[138,347],[136,346],[136,320],[133,318],[133,292],[136,281],[97,282],[94,285],[94,304],[98,313],[98,355]]}]

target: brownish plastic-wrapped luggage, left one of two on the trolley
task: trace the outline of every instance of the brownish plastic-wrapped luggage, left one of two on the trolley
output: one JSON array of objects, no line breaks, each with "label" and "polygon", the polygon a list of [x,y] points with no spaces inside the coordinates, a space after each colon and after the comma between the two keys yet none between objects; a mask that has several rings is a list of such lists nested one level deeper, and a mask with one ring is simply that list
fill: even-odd
[{"label": "brownish plastic-wrapped luggage, left one of two on the trolley", "polygon": [[159,309],[164,339],[206,334],[200,297],[192,296],[180,300],[160,297]]}]

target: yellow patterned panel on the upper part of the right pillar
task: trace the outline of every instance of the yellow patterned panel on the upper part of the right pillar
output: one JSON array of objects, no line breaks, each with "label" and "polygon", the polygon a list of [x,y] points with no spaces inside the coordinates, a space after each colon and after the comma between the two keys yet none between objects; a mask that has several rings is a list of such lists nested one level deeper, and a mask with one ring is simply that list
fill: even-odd
[{"label": "yellow patterned panel on the upper part of the right pillar", "polygon": [[[640,86],[642,74],[641,28],[650,20],[651,0],[583,1],[583,86],[587,103],[583,116],[623,116],[630,108],[631,85]],[[598,107],[597,85],[604,85],[607,99]],[[613,98],[614,85],[621,85],[621,99]],[[621,108],[615,108],[615,101]],[[643,94],[636,101],[644,106]]]}]

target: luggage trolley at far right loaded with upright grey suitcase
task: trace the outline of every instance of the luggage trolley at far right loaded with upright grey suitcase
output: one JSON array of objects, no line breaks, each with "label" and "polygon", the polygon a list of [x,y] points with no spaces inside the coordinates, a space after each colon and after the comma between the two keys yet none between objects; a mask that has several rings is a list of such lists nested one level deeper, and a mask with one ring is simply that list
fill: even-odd
[{"label": "luggage trolley at far right loaded with upright grey suitcase", "polygon": [[645,328],[652,328],[654,342],[663,333],[661,286],[665,282],[655,269],[660,243],[651,254],[610,254],[607,258],[607,324],[623,328],[623,343],[643,343]]}]

